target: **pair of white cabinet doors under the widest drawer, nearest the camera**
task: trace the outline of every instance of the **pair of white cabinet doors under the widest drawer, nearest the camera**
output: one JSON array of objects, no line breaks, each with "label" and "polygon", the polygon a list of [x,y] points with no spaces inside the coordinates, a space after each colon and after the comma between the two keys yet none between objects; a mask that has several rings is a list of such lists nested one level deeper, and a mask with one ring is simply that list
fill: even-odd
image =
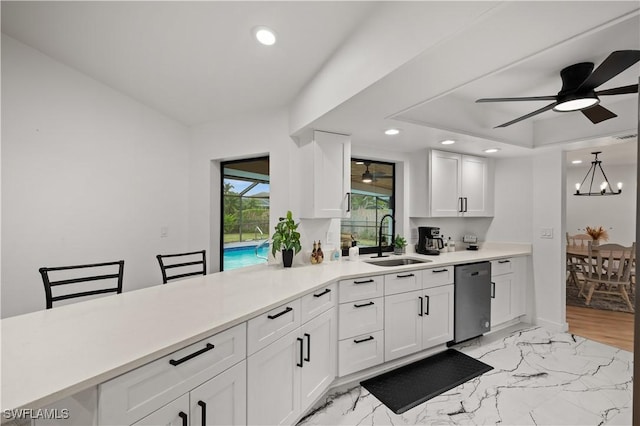
[{"label": "pair of white cabinet doors under the widest drawer, nearest the camera", "polygon": [[149,414],[135,426],[247,424],[246,392],[247,368],[242,361]]}]

